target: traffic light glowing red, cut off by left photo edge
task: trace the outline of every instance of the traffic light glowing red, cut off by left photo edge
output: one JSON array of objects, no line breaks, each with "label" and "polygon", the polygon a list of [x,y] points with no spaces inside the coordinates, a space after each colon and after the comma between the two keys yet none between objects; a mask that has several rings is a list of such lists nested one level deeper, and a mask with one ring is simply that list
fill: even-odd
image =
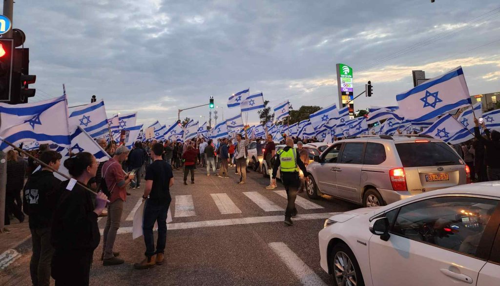
[{"label": "traffic light glowing red, cut off by left photo edge", "polygon": [[0,102],[8,102],[12,81],[14,41],[0,39]]}]

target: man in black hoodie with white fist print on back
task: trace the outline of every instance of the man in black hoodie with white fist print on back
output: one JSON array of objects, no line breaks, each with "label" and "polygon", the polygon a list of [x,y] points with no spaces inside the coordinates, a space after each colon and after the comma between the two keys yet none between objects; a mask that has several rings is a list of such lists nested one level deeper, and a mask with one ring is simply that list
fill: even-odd
[{"label": "man in black hoodie with white fist print on back", "polygon": [[[55,151],[45,151],[39,158],[53,170],[58,170],[61,155]],[[29,262],[29,272],[33,285],[48,286],[50,283],[50,262],[54,253],[50,245],[52,214],[60,197],[61,181],[54,177],[50,168],[43,167],[32,174],[23,190],[23,209],[29,216],[29,230],[33,254]]]}]

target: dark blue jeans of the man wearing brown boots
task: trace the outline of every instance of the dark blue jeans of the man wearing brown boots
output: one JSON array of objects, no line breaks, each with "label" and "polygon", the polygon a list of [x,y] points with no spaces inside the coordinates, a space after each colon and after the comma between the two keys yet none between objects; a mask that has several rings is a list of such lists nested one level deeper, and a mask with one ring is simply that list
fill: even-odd
[{"label": "dark blue jeans of the man wearing brown boots", "polygon": [[[144,255],[151,257],[156,253],[163,253],[166,244],[166,213],[168,211],[167,204],[157,203],[146,200],[144,205],[144,217],[142,221],[142,232],[144,233],[144,243],[146,244],[146,252]],[[156,251],[154,251],[154,222],[158,222],[158,239],[156,240]]]}]

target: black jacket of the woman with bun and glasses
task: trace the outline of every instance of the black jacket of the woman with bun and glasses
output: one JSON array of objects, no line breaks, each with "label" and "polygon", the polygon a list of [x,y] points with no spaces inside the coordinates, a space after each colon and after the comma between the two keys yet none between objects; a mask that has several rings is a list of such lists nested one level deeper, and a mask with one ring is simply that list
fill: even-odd
[{"label": "black jacket of the woman with bun and glasses", "polygon": [[56,251],[93,251],[100,233],[92,197],[77,184],[66,190],[68,182],[60,185],[62,194],[52,218],[50,243]]}]

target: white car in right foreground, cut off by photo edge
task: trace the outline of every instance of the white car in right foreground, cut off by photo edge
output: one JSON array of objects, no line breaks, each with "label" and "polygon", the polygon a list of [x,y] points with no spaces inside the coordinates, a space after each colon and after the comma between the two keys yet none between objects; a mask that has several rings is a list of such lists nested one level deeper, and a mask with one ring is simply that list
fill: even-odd
[{"label": "white car in right foreground, cut off by photo edge", "polygon": [[422,193],[327,219],[321,267],[337,285],[500,285],[500,181]]}]

